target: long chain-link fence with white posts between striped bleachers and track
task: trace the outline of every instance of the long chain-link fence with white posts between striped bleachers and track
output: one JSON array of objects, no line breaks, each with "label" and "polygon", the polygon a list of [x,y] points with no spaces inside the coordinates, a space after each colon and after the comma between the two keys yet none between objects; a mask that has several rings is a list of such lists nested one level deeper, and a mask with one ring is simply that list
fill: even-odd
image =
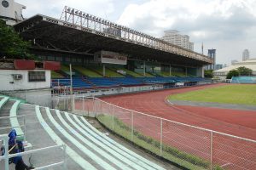
[{"label": "long chain-link fence with white posts between striped bleachers and track", "polygon": [[189,169],[256,169],[256,141],[172,122],[109,104],[75,98],[75,110],[157,156]]}]

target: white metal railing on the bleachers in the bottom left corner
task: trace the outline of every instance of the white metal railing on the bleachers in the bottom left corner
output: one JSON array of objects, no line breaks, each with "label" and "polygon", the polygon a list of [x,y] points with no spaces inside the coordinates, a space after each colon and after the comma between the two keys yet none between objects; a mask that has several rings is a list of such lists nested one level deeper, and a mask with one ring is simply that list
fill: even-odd
[{"label": "white metal railing on the bleachers in the bottom left corner", "polygon": [[44,167],[36,167],[35,169],[46,169],[49,167],[56,167],[56,166],[62,166],[63,169],[67,169],[67,165],[66,165],[67,156],[66,156],[66,145],[65,144],[53,145],[53,146],[49,146],[49,147],[39,148],[36,150],[28,150],[28,151],[24,151],[24,152],[20,152],[20,153],[16,153],[16,154],[9,154],[8,140],[9,140],[9,137],[7,134],[0,135],[0,141],[3,141],[3,144],[4,144],[4,154],[3,154],[3,156],[0,156],[0,161],[2,161],[2,160],[4,161],[4,170],[9,170],[9,158],[12,158],[15,156],[26,156],[29,154],[39,153],[39,152],[43,152],[46,150],[53,150],[56,148],[60,148],[63,150],[63,161],[55,162],[55,163],[46,165]]}]

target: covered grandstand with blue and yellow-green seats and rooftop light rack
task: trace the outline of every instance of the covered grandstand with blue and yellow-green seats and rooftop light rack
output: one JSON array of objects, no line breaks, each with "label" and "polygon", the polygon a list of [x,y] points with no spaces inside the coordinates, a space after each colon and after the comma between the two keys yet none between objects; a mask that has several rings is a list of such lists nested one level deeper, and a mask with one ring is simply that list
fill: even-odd
[{"label": "covered grandstand with blue and yellow-green seats and rooftop light rack", "polygon": [[203,78],[203,65],[212,63],[207,56],[75,8],[65,7],[61,20],[37,14],[15,30],[33,42],[38,59],[61,63],[59,71],[51,71],[53,88],[170,88],[209,82]]}]

